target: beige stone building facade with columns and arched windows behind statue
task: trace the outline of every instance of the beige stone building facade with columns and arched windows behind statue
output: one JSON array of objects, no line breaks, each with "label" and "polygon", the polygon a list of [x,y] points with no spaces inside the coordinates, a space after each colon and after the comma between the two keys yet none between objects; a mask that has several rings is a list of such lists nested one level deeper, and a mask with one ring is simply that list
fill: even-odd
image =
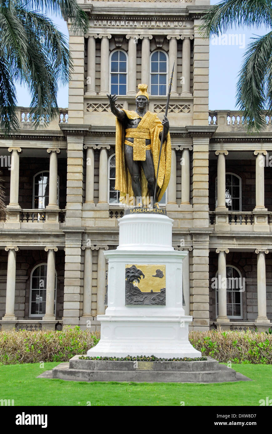
[{"label": "beige stone building facade with columns and arched windows behind statue", "polygon": [[149,110],[162,118],[174,60],[172,168],[161,206],[174,220],[173,247],[189,251],[185,312],[196,330],[268,329],[271,117],[265,132],[248,135],[239,112],[209,112],[209,41],[199,34],[209,1],[79,3],[90,28],[70,32],[68,109],[34,130],[28,109],[18,107],[20,130],[0,138],[8,210],[0,228],[2,330],[99,329],[103,250],[118,245],[124,212],[113,190],[115,118],[106,94],[134,109],[137,86],[146,83]]}]

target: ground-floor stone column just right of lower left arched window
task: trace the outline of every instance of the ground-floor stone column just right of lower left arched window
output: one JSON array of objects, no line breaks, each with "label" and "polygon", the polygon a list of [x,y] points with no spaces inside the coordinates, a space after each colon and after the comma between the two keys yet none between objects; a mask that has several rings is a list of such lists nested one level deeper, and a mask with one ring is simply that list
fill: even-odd
[{"label": "ground-floor stone column just right of lower left arched window", "polygon": [[43,320],[54,321],[55,318],[55,286],[56,286],[56,272],[55,272],[55,252],[58,251],[57,247],[45,247],[47,253],[47,272],[46,272],[46,306],[45,316]]}]

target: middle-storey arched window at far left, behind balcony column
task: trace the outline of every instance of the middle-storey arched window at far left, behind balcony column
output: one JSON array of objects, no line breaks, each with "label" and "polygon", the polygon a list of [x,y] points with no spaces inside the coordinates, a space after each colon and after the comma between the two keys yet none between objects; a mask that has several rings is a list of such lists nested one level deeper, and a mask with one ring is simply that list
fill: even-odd
[{"label": "middle-storey arched window at far left, behind balcony column", "polygon": [[[60,177],[57,178],[57,204],[59,204]],[[49,204],[49,171],[33,176],[33,209],[44,209]]]}]

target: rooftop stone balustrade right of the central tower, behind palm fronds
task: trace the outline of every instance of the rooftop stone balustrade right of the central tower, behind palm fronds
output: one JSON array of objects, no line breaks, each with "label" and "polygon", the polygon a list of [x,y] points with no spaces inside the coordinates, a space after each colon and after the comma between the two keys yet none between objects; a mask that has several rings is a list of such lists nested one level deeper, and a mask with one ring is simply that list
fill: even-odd
[{"label": "rooftop stone balustrade right of the central tower, behind palm fronds", "polygon": [[[267,128],[272,127],[272,115],[264,112]],[[245,131],[244,116],[242,112],[231,110],[214,110],[209,112],[209,125],[217,125],[216,132],[237,130]]]}]

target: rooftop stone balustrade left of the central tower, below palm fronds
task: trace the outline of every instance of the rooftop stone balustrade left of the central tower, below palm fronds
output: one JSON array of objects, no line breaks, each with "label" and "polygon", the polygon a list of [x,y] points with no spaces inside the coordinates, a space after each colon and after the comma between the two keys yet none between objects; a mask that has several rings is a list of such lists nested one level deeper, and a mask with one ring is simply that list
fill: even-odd
[{"label": "rooftop stone balustrade left of the central tower, below palm fronds", "polygon": [[[31,114],[29,107],[17,107],[17,116],[21,129],[34,129],[34,115]],[[40,126],[38,130],[42,130],[44,128],[50,130],[59,130],[59,124],[67,124],[68,123],[68,109],[60,109],[59,116],[54,118],[51,122],[49,118],[44,118],[42,122],[40,122]]]}]

